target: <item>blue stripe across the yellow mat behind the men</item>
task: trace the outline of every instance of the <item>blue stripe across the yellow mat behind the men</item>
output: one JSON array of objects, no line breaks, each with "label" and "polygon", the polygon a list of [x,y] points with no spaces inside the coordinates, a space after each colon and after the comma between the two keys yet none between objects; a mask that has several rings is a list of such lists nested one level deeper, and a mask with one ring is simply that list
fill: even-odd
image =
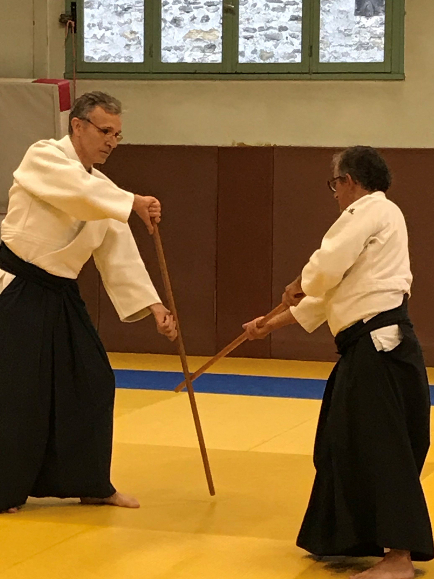
[{"label": "blue stripe across the yellow mat behind the men", "polygon": [[[181,372],[150,370],[115,370],[115,376],[118,388],[135,390],[173,390],[184,379]],[[242,376],[239,374],[203,374],[194,382],[196,392],[308,398],[311,400],[321,400],[325,386],[326,380]],[[430,386],[429,389],[431,391],[431,404],[434,405],[434,386]]]}]

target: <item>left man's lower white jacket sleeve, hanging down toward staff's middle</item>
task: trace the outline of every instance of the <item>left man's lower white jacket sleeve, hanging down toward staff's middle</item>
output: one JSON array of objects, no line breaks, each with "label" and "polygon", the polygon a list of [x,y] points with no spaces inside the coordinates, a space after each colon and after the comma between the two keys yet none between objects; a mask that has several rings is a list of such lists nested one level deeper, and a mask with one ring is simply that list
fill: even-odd
[{"label": "left man's lower white jacket sleeve, hanging down toward staff's middle", "polygon": [[161,303],[127,223],[110,219],[93,258],[121,321],[141,320],[151,313],[150,305]]}]

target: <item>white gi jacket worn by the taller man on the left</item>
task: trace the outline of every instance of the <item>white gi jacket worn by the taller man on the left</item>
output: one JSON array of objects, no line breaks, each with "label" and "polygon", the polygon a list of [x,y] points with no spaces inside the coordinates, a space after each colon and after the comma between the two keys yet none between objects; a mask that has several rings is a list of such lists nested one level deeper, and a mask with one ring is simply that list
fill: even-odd
[{"label": "white gi jacket worn by the taller man on the left", "polygon": [[[75,279],[91,255],[122,321],[160,303],[127,220],[134,195],[88,173],[69,136],[32,145],[13,174],[2,241],[24,261]],[[0,291],[14,276],[0,270]]]}]

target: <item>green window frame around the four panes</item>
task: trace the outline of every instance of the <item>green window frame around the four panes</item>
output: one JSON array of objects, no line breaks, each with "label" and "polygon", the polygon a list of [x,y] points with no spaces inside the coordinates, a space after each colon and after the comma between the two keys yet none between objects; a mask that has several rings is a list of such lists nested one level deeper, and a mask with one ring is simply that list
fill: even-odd
[{"label": "green window frame around the four panes", "polygon": [[[404,79],[405,0],[385,0],[385,57],[382,63],[321,63],[320,2],[303,0],[301,63],[238,63],[239,0],[223,2],[223,58],[221,63],[162,63],[161,2],[145,0],[144,62],[86,63],[83,55],[85,0],[66,1],[76,6],[76,77],[105,79]],[[229,4],[229,2],[231,2]],[[65,78],[73,75],[72,38],[68,37]]]}]

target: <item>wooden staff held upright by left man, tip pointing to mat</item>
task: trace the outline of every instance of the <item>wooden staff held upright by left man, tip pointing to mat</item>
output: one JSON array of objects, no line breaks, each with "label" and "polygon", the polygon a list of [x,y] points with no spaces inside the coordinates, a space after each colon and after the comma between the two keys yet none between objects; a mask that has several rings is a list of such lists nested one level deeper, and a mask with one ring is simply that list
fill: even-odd
[{"label": "wooden staff held upright by left man, tip pointing to mat", "polygon": [[205,468],[206,481],[208,483],[208,489],[209,489],[210,495],[214,496],[214,494],[216,494],[216,490],[214,489],[213,477],[211,476],[211,469],[209,466],[208,455],[206,452],[205,440],[203,439],[202,427],[200,426],[199,412],[198,412],[198,407],[196,405],[193,385],[191,383],[190,371],[188,369],[187,356],[185,355],[184,342],[183,342],[183,338],[181,336],[181,328],[180,328],[180,324],[179,324],[179,320],[178,320],[178,314],[176,311],[175,301],[173,298],[172,285],[170,284],[169,271],[167,270],[166,258],[165,258],[164,252],[163,252],[163,245],[161,243],[161,237],[160,237],[160,233],[158,230],[158,225],[156,224],[154,219],[152,219],[151,221],[152,221],[152,225],[154,226],[154,234],[152,235],[152,237],[154,237],[155,249],[156,249],[156,253],[158,255],[158,263],[160,266],[161,275],[163,277],[163,283],[164,283],[164,287],[166,290],[167,301],[169,302],[170,313],[172,313],[172,316],[175,320],[176,328],[178,331],[178,337],[176,340],[176,345],[178,348],[178,354],[181,358],[181,364],[183,365],[185,383],[187,385],[187,390],[188,390],[188,398],[190,400],[191,411],[193,413],[193,420],[194,420],[194,424],[196,427],[196,434],[198,435],[199,448],[200,448],[200,454],[202,455],[203,467]]}]

